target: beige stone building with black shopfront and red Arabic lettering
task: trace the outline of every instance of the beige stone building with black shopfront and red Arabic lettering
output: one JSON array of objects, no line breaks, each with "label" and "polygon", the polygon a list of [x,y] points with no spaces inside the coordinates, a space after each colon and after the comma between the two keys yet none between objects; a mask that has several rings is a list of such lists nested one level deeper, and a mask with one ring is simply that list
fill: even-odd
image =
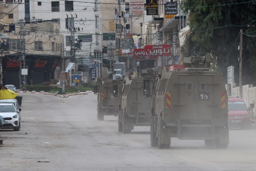
[{"label": "beige stone building with black shopfront and red Arabic lettering", "polygon": [[[1,82],[17,88],[24,83],[42,84],[57,78],[57,72],[63,68],[63,35],[58,31],[59,24],[30,21],[26,17],[18,19],[19,5],[5,1],[0,6],[5,11],[0,18]],[[27,75],[22,75],[22,69],[28,70]]]}]

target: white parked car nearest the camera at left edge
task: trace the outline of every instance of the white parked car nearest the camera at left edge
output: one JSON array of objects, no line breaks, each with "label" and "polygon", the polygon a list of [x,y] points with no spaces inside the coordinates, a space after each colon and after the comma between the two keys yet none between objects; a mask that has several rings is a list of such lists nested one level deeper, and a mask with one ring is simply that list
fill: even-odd
[{"label": "white parked car nearest the camera at left edge", "polygon": [[16,110],[12,103],[0,103],[0,115],[5,120],[1,129],[20,130],[20,110]]}]

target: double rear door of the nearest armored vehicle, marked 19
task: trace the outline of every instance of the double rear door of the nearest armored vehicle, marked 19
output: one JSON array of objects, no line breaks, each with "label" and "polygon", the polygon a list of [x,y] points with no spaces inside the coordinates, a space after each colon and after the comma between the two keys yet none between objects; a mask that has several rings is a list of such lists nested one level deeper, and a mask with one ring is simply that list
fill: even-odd
[{"label": "double rear door of the nearest armored vehicle, marked 19", "polygon": [[179,75],[180,119],[213,119],[213,76]]}]

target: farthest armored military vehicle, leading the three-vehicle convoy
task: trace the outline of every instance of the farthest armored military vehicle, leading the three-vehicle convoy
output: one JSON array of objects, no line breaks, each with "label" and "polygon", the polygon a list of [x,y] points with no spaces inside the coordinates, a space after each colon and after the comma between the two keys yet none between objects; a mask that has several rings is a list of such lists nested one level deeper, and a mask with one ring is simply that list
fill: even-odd
[{"label": "farthest armored military vehicle, leading the three-vehicle convoy", "polygon": [[104,116],[118,116],[119,96],[122,95],[124,80],[103,81],[100,86],[94,86],[94,94],[98,95],[97,119]]}]

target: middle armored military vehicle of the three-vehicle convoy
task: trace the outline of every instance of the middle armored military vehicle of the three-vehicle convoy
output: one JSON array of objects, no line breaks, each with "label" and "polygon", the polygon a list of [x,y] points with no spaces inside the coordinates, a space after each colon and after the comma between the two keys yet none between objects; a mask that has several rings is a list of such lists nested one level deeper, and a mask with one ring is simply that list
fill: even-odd
[{"label": "middle armored military vehicle of the three-vehicle convoy", "polygon": [[126,79],[118,115],[119,132],[130,133],[134,126],[150,126],[156,82],[157,76]]}]

